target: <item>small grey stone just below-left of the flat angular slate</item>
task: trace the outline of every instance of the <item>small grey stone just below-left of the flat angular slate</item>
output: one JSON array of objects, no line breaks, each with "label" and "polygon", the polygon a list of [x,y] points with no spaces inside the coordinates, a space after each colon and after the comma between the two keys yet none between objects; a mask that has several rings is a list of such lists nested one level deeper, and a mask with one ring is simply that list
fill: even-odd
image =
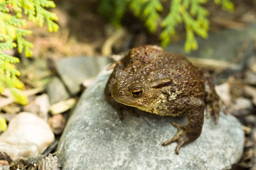
[{"label": "small grey stone just below-left of the flat angular slate", "polygon": [[58,77],[52,78],[47,85],[46,91],[51,105],[70,98],[67,89]]}]

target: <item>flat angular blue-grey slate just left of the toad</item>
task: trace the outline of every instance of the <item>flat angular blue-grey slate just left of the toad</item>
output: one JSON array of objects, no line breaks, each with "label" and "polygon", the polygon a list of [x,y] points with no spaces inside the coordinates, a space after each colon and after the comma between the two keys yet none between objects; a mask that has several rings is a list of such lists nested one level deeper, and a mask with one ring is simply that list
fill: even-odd
[{"label": "flat angular blue-grey slate just left of the toad", "polygon": [[96,77],[110,62],[108,57],[66,57],[56,61],[55,65],[70,94],[76,95],[83,80]]}]

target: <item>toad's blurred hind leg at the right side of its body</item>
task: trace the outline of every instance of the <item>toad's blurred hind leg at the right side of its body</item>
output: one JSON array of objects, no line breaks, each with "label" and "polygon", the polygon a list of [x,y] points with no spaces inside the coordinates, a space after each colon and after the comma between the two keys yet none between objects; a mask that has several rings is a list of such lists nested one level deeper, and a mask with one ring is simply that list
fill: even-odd
[{"label": "toad's blurred hind leg at the right side of its body", "polygon": [[204,71],[204,86],[205,86],[205,105],[207,112],[207,119],[211,115],[214,116],[215,125],[218,124],[218,118],[220,113],[220,106],[224,107],[221,99],[214,88],[214,82],[211,74],[208,71]]}]

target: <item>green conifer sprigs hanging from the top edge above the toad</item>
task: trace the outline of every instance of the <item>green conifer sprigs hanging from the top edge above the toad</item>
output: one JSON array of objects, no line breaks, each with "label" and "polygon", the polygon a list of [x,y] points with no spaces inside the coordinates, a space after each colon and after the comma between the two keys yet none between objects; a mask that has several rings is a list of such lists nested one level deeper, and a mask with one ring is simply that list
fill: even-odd
[{"label": "green conifer sprigs hanging from the top edge above the toad", "polygon": [[[164,28],[160,34],[161,45],[165,47],[175,36],[175,28],[183,23],[186,28],[185,51],[198,49],[195,34],[207,38],[209,30],[209,11],[202,5],[208,0],[171,0],[169,14],[161,22]],[[233,11],[234,5],[231,0],[214,0],[216,5],[222,5],[223,10]],[[127,7],[133,11],[136,17],[145,21],[148,31],[154,32],[157,21],[160,19],[159,12],[163,11],[160,0],[101,0],[99,12],[110,18],[116,26]]]}]

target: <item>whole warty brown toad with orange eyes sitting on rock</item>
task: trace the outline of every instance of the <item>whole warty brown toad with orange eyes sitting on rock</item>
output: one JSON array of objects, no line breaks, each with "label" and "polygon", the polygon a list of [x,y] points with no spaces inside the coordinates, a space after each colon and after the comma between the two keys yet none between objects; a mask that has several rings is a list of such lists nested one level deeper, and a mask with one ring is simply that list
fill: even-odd
[{"label": "whole warty brown toad with orange eyes sitting on rock", "polygon": [[181,54],[169,53],[156,45],[129,50],[115,66],[105,88],[106,99],[123,118],[123,111],[138,108],[160,116],[188,115],[188,125],[180,126],[163,146],[178,142],[175,153],[184,144],[197,139],[207,118],[214,115],[218,123],[220,99],[212,77],[200,71]]}]

